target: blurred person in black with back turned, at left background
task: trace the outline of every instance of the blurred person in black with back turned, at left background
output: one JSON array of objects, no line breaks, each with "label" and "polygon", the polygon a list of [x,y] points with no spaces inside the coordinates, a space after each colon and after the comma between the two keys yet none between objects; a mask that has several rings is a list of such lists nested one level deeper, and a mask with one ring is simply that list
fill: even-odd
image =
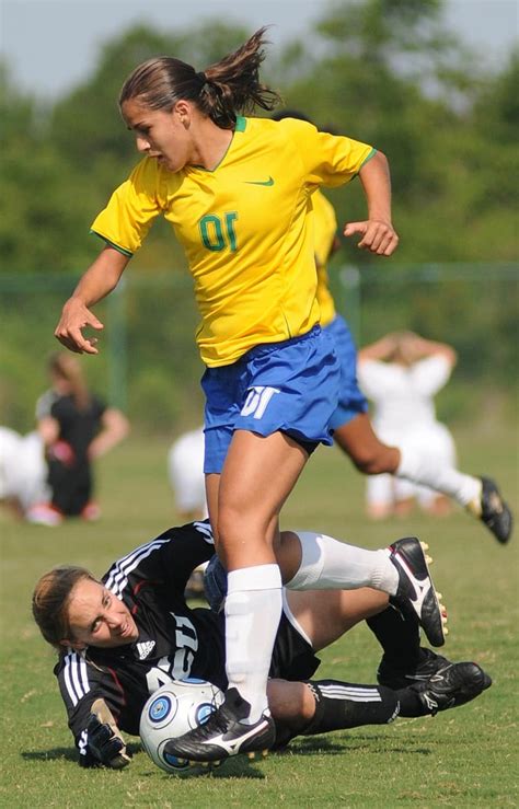
[{"label": "blurred person in black with back turned, at left background", "polygon": [[48,464],[50,498],[30,510],[28,519],[58,525],[66,517],[95,520],[93,462],[127,435],[126,416],[92,393],[80,361],[54,354],[48,362],[51,388],[36,404],[39,436]]}]

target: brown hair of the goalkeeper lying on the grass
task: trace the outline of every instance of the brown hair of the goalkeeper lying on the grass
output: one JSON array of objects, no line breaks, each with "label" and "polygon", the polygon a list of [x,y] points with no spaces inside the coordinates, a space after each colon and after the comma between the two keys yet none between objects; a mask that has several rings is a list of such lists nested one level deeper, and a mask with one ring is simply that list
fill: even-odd
[{"label": "brown hair of the goalkeeper lying on the grass", "polygon": [[84,567],[55,567],[44,574],[34,588],[33,617],[45,640],[58,649],[61,640],[72,639],[68,605],[70,593],[82,579],[97,580]]}]

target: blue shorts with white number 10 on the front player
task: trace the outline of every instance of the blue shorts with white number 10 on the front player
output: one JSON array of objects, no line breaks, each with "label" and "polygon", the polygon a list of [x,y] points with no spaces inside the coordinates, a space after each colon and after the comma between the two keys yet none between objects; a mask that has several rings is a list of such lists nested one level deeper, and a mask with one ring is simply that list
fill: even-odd
[{"label": "blue shorts with white number 10 on the front player", "polygon": [[237,362],[207,368],[204,472],[220,473],[234,430],[281,431],[309,452],[333,443],[341,369],[332,337],[320,326],[282,343],[256,346]]}]

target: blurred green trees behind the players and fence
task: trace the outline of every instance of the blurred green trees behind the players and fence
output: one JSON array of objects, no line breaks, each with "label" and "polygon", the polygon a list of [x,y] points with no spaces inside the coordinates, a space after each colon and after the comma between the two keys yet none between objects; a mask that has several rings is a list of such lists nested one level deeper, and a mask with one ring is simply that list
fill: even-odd
[{"label": "blurred green trees behind the players and fence", "polygon": [[[333,127],[371,142],[388,154],[401,246],[394,258],[377,263],[384,274],[401,264],[517,261],[519,51],[512,51],[498,72],[485,73],[477,55],[442,27],[441,10],[442,0],[337,0],[310,36],[286,44],[264,66],[265,80],[281,92],[288,107],[302,109],[322,128]],[[89,235],[90,223],[138,159],[117,108],[120,85],[138,62],[173,54],[203,69],[250,33],[221,22],[206,22],[181,33],[131,27],[105,43],[97,63],[80,85],[47,106],[22,93],[8,66],[0,65],[0,281],[2,275],[79,275],[97,252],[97,240]],[[330,196],[339,220],[364,216],[364,198],[356,183]],[[351,243],[344,245],[336,261],[373,264],[372,256]],[[131,277],[184,266],[169,227],[158,222],[146,247],[132,259]],[[517,356],[509,347],[517,315],[514,297],[497,286],[492,287],[494,291],[481,285],[477,289],[476,293],[466,285],[440,285],[434,300],[424,290],[414,300],[413,311],[406,311],[399,286],[387,284],[381,316],[396,324],[405,319],[402,325],[418,331],[425,324],[430,336],[446,338],[473,357],[474,375],[482,370],[477,346],[493,331],[501,346],[496,349],[500,361],[496,368],[486,365],[491,377],[498,373],[503,379]],[[373,314],[380,308],[374,294],[374,288],[364,293],[367,312]],[[474,294],[481,297],[480,305]],[[489,323],[484,299],[493,296],[504,300],[499,317]],[[136,339],[146,328],[142,313],[150,307],[153,311],[153,293],[146,309],[145,297],[143,292],[130,296],[125,312]],[[57,298],[51,300],[54,310]],[[8,384],[4,400],[8,414],[16,413],[18,426],[27,409],[16,391],[20,385],[31,388],[34,379],[33,373],[27,381],[23,366],[42,362],[41,356],[27,355],[34,342],[25,339],[27,323],[19,316],[23,301],[20,296],[14,308],[2,313],[7,333],[19,333],[20,340],[14,343],[23,346],[23,358],[13,355],[12,348],[2,355],[4,377],[16,383]],[[45,330],[45,353],[55,345],[47,315],[38,319],[37,311],[31,304],[27,315],[36,333]],[[155,319],[154,338],[131,346],[131,378],[142,380],[134,402],[143,416],[150,396],[160,400],[166,411],[170,403],[174,418],[185,408],[185,398],[178,391],[173,397],[168,393],[169,374],[185,380],[199,370],[195,349],[189,349],[195,313],[188,305],[162,311]],[[57,314],[57,309],[50,312],[53,323]],[[364,321],[368,320],[367,314]],[[370,336],[378,336],[376,327],[373,317]],[[379,332],[384,331],[382,325]],[[151,368],[157,365],[155,353],[165,344],[175,345],[176,353],[172,350],[170,367],[164,367],[161,377]],[[186,391],[194,395],[191,383]]]}]

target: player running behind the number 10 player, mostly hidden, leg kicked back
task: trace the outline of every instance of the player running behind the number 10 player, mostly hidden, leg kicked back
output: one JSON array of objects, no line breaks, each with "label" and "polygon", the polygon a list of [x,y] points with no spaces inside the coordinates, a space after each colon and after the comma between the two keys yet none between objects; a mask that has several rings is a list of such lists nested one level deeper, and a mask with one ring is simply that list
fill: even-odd
[{"label": "player running behind the number 10 player, mostly hidden, leg kicked back", "polygon": [[[298,118],[310,122],[296,109],[284,109],[272,117],[275,120]],[[499,542],[507,542],[512,528],[511,512],[494,481],[461,473],[450,464],[440,463],[434,453],[424,453],[411,443],[404,449],[388,446],[376,435],[367,413],[367,400],[357,383],[355,342],[346,321],[335,309],[330,290],[327,263],[341,247],[335,210],[320,189],[312,194],[312,205],[321,325],[323,331],[333,336],[341,362],[341,400],[330,421],[336,446],[349,455],[365,475],[385,472],[447,495],[481,519]],[[355,224],[350,223],[350,227],[355,228]]]}]

